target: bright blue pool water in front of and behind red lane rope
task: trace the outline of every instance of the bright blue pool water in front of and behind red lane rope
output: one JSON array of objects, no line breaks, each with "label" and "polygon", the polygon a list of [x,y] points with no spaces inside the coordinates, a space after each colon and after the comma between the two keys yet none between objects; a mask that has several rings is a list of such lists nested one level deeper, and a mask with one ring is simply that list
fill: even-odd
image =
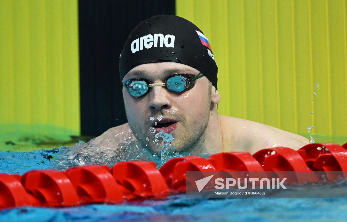
[{"label": "bright blue pool water in front of and behind red lane rope", "polygon": [[[0,172],[23,174],[33,169],[61,168],[59,149],[0,151]],[[53,157],[53,159],[52,159]],[[69,163],[70,165],[73,165]],[[76,164],[77,165],[77,164]],[[310,189],[309,187],[307,189]],[[346,198],[186,198],[78,207],[20,207],[0,211],[0,221],[346,221]]]}]

